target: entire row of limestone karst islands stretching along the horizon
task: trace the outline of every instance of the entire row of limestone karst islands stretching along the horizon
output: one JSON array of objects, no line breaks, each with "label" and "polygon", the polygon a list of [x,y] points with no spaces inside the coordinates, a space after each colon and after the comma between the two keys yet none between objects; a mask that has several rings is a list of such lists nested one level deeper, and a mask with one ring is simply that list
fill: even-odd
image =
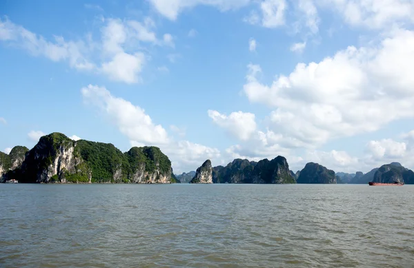
[{"label": "entire row of limestone karst islands stretching along the horizon", "polygon": [[414,172],[390,163],[366,174],[335,172],[307,163],[293,172],[283,156],[272,160],[235,159],[213,167],[206,160],[194,172],[176,175],[171,161],[158,147],[132,147],[121,152],[110,143],[73,141],[61,133],[42,136],[31,150],[16,146],[10,154],[0,152],[2,183],[257,183],[257,184],[414,184]]}]

